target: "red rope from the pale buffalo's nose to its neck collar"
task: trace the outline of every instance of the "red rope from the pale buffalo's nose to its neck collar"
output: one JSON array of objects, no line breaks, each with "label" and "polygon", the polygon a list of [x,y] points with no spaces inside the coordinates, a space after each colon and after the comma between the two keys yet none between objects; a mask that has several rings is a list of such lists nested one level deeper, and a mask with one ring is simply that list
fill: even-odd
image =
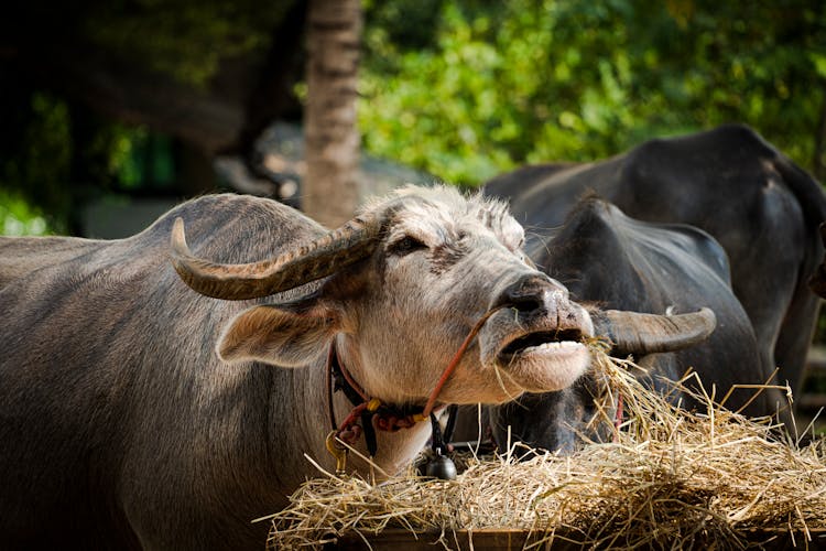
[{"label": "red rope from the pale buffalo's nose to its neck collar", "polygon": [[[351,445],[359,439],[359,436],[361,436],[362,428],[358,424],[359,418],[361,418],[362,424],[365,424],[363,432],[367,433],[368,451],[371,455],[376,454],[376,442],[374,434],[371,431],[371,425],[369,425],[368,423],[372,422],[376,428],[381,431],[396,432],[401,429],[410,429],[416,423],[428,419],[436,406],[436,399],[438,398],[438,395],[442,392],[445,383],[450,378],[450,375],[453,375],[453,372],[456,370],[456,366],[458,366],[459,361],[461,361],[465,352],[467,352],[470,343],[472,343],[482,325],[485,325],[485,322],[487,322],[488,318],[493,315],[493,313],[506,306],[507,304],[503,304],[489,310],[479,318],[478,322],[476,322],[476,325],[474,325],[474,327],[470,329],[470,333],[468,333],[468,335],[465,337],[461,346],[459,346],[459,349],[456,352],[450,363],[442,372],[442,377],[439,377],[436,386],[431,392],[430,398],[427,399],[427,403],[420,413],[405,414],[399,408],[384,404],[378,398],[368,397],[367,392],[365,392],[365,390],[352,379],[352,376],[349,374],[349,371],[339,364],[336,354],[336,345],[334,342],[330,345],[330,349],[327,355],[327,397],[330,423],[333,425],[333,432],[327,436],[327,449],[330,451],[330,453],[333,453],[333,455],[340,461],[339,456],[341,454],[341,450],[340,447],[335,445],[335,440],[338,439],[341,442]],[[344,377],[347,385],[336,385],[336,388],[334,389],[333,380],[338,374]],[[339,388],[347,393],[347,397],[354,404],[356,404],[356,407],[352,408],[344,422],[341,422],[340,425],[337,425],[335,421],[335,413],[333,411],[333,392],[334,390],[338,390]],[[361,402],[357,403],[358,400],[360,400]],[[336,447],[336,450],[334,450],[334,447]]]}]

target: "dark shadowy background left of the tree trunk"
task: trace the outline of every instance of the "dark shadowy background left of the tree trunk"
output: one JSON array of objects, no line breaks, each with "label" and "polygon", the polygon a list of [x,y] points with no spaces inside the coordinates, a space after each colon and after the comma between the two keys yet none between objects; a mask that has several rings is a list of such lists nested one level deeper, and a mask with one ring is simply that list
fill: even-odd
[{"label": "dark shadowy background left of the tree trunk", "polygon": [[[101,194],[213,190],[216,155],[250,152],[273,119],[301,118],[305,11],[295,0],[6,7],[0,229],[80,234]],[[31,215],[34,227],[2,223]]]}]

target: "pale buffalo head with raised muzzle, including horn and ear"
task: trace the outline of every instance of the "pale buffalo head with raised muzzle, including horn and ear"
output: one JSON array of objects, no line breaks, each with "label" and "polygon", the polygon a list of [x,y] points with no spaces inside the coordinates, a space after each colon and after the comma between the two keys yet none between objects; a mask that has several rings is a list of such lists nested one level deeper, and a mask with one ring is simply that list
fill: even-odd
[{"label": "pale buffalo head with raised muzzle, including horn and ear", "polygon": [[[559,390],[587,368],[588,313],[526,261],[522,227],[499,202],[452,188],[407,188],[368,205],[317,240],[251,264],[194,257],[183,227],[173,264],[193,289],[241,300],[320,280],[313,292],[239,314],[218,354],[227,361],[309,364],[335,343],[363,390],[422,403],[452,361],[444,403],[500,403]],[[460,355],[471,329],[478,336]]]}]

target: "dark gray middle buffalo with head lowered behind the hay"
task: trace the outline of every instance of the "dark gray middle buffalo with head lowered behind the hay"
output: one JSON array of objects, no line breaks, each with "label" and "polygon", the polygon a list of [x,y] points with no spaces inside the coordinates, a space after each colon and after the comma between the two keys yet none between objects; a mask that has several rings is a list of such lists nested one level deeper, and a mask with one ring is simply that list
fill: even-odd
[{"label": "dark gray middle buffalo with head lowered behind the hay", "polygon": [[[772,370],[762,366],[751,323],[731,292],[726,253],[708,234],[687,225],[635,220],[596,197],[576,205],[553,239],[534,250],[542,268],[580,303],[601,307],[662,313],[710,307],[717,328],[710,336],[683,350],[638,353],[646,368],[638,374],[643,383],[672,390],[666,379],[678,380],[693,368],[710,393],[724,397],[733,385],[769,382]],[[621,347],[616,353],[623,355]],[[542,395],[526,393],[510,404],[489,408],[496,442],[511,441],[533,447],[569,452],[579,436],[605,440],[610,423],[593,422],[607,387],[600,376],[586,371],[570,387]],[[756,400],[753,390],[735,390],[726,406],[749,415],[780,413],[790,421],[787,400],[775,389]],[[704,407],[688,393],[672,393],[686,408]],[[608,410],[611,403],[605,406]]]}]

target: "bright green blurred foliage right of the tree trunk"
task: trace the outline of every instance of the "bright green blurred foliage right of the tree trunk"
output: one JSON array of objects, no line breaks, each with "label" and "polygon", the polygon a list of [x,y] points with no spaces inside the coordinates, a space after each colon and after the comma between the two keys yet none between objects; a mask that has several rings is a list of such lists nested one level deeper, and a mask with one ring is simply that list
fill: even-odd
[{"label": "bright green blurred foliage right of the tree trunk", "polygon": [[[740,121],[798,163],[826,105],[826,4],[368,2],[365,147],[447,181]],[[405,22],[428,25],[400,30]]]}]

